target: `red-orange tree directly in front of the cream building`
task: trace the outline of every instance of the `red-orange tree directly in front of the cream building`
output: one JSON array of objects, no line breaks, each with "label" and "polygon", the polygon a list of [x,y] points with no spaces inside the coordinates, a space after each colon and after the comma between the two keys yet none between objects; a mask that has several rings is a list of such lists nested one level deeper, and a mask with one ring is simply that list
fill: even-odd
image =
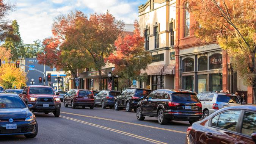
[{"label": "red-orange tree directly in front of the cream building", "polygon": [[152,56],[144,49],[144,37],[140,36],[139,23],[134,22],[133,36],[119,36],[115,41],[115,53],[111,53],[106,62],[115,64],[115,73],[121,78],[121,81],[131,84],[132,79],[141,79],[141,69],[151,63]]}]

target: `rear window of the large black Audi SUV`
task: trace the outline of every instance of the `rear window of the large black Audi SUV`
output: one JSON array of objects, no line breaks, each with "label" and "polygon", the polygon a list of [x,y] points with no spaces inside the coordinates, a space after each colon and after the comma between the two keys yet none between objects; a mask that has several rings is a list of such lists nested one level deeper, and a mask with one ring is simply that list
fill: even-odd
[{"label": "rear window of the large black Audi SUV", "polygon": [[199,102],[196,95],[192,94],[172,94],[171,97],[175,102]]}]

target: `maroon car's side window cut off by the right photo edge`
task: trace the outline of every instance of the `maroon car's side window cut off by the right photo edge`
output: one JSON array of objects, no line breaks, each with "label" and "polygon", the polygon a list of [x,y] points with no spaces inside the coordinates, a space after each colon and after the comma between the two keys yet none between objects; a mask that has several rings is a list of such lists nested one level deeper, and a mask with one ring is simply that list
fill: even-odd
[{"label": "maroon car's side window cut off by the right photo edge", "polygon": [[242,134],[251,136],[256,132],[256,113],[245,111],[243,116]]}]

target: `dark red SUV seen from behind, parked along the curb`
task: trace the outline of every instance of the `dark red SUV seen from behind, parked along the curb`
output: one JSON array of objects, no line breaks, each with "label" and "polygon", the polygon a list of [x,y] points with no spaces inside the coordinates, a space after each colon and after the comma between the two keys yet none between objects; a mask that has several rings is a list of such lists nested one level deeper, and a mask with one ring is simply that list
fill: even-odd
[{"label": "dark red SUV seen from behind, parked along the curb", "polygon": [[85,89],[71,89],[65,95],[63,102],[66,108],[68,105],[71,105],[71,108],[75,108],[77,106],[82,106],[82,108],[85,108],[85,106],[87,106],[93,109],[93,92]]}]

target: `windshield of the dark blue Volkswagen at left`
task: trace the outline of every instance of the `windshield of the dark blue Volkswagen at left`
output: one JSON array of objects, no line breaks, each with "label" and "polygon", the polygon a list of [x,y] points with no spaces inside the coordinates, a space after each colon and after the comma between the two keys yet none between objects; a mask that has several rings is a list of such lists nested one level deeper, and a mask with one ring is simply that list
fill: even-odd
[{"label": "windshield of the dark blue Volkswagen at left", "polygon": [[0,96],[0,109],[1,108],[25,108],[19,96]]}]

